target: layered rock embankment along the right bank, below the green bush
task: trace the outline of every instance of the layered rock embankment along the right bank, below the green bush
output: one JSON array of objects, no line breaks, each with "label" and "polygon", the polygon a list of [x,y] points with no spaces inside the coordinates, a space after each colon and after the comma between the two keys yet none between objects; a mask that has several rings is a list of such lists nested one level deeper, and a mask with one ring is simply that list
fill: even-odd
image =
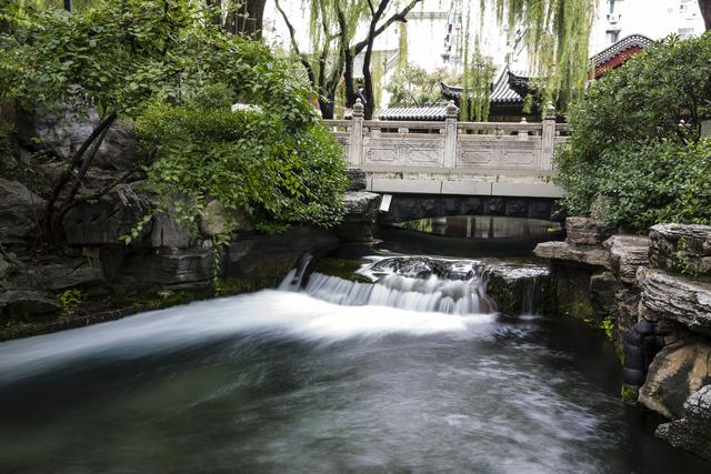
[{"label": "layered rock embankment along the right bank, below the green bush", "polygon": [[625,399],[674,420],[658,436],[711,458],[711,226],[659,224],[612,235],[569,218],[550,259],[561,313],[609,332],[624,360]]}]

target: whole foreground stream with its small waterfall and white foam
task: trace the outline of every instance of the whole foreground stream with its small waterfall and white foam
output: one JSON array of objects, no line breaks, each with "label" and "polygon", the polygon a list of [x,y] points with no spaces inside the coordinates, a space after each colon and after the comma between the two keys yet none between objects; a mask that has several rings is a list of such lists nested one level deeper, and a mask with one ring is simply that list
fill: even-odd
[{"label": "whole foreground stream with its small waterfall and white foam", "polygon": [[600,331],[417,262],[0,344],[0,472],[709,472],[620,402]]}]

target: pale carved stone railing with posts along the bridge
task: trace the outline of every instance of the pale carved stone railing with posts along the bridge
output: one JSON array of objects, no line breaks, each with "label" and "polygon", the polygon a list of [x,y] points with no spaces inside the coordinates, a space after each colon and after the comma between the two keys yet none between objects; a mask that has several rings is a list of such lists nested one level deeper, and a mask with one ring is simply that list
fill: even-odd
[{"label": "pale carved stone railing with posts along the bridge", "polygon": [[549,107],[543,121],[443,122],[364,120],[360,100],[352,120],[324,120],[347,151],[349,164],[371,173],[542,177],[553,172],[553,149],[567,140]]}]

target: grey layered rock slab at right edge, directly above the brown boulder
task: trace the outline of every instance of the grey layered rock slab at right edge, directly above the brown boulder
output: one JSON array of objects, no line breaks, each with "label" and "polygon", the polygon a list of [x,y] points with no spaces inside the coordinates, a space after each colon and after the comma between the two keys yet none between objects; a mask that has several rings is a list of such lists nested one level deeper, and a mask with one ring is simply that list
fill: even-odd
[{"label": "grey layered rock slab at right edge, directly above the brown boulder", "polygon": [[644,270],[642,275],[642,316],[685,325],[711,335],[711,283],[670,275],[661,270]]}]

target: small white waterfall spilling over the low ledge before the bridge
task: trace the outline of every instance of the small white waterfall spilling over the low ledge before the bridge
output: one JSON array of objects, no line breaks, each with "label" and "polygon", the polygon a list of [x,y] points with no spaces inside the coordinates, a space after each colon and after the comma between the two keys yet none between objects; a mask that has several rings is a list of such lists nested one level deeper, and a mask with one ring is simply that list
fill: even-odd
[{"label": "small white waterfall spilling over the low ledge before the bridge", "polygon": [[[282,291],[299,291],[292,270],[280,285]],[[437,275],[417,279],[389,274],[375,283],[359,283],[313,273],[301,291],[330,303],[346,306],[390,306],[410,311],[445,314],[489,314],[494,305],[485,296],[480,281],[448,280]]]}]

